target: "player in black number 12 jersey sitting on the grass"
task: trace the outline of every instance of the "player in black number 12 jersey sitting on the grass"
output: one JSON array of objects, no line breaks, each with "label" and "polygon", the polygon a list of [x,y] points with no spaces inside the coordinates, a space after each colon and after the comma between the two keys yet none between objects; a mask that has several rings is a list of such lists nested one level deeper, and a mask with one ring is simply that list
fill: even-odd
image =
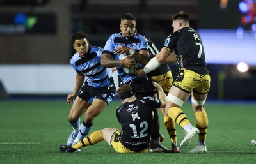
[{"label": "player in black number 12 jersey sitting on the grass", "polygon": [[74,152],[88,145],[105,140],[116,153],[148,153],[152,130],[153,108],[164,107],[166,95],[159,84],[154,83],[159,98],[150,96],[137,99],[128,84],[121,85],[117,91],[123,103],[116,108],[116,117],[122,130],[104,128],[90,134],[75,145],[60,145],[61,152]]}]

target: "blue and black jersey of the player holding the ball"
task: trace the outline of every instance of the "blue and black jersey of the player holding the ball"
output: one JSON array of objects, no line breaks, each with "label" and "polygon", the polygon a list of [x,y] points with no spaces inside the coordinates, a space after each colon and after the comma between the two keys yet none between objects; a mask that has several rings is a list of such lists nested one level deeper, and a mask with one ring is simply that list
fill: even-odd
[{"label": "blue and black jersey of the player holding the ball", "polygon": [[[119,47],[120,45],[124,45],[126,47],[131,47],[137,52],[140,50],[147,50],[148,51],[148,43],[147,39],[144,36],[141,36],[140,34],[134,34],[131,38],[123,37],[122,33],[115,33],[112,34],[108,41],[105,44],[104,50],[102,53],[110,54],[113,59],[115,60],[122,60],[124,59],[127,54],[121,54],[118,56],[118,54],[114,54],[114,50]],[[143,66],[140,63],[137,63],[137,69],[143,68]],[[127,75],[123,69],[122,66],[116,66],[116,70],[120,78],[122,79],[123,84],[132,81],[134,78],[137,78],[137,75]]]}]

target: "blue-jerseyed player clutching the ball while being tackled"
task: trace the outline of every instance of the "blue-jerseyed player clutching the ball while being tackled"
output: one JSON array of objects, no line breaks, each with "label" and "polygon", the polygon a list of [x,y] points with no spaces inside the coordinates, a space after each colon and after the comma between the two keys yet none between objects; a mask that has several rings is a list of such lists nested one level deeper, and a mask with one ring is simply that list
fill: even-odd
[{"label": "blue-jerseyed player clutching the ball while being tackled", "polygon": [[[124,72],[122,66],[131,67],[131,57],[135,59],[138,68],[148,62],[148,43],[147,39],[136,31],[136,18],[131,13],[122,15],[120,22],[120,33],[112,34],[104,46],[102,52],[101,64],[108,68],[116,67],[116,71],[122,84],[129,84],[138,98],[144,96],[156,95],[156,87],[147,77],[138,77],[137,75],[128,75]],[[128,62],[130,61],[130,62]],[[154,119],[152,121],[152,136],[150,140],[150,149],[154,152],[170,152],[169,149],[159,143],[159,116],[157,109],[154,109]]]}]

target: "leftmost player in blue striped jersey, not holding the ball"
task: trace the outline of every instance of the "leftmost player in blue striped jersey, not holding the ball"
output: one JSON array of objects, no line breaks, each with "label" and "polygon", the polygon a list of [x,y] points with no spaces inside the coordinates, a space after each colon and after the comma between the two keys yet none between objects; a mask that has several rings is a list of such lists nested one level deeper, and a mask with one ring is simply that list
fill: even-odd
[{"label": "leftmost player in blue striped jersey, not holding the ball", "polygon": [[[73,131],[67,145],[76,144],[90,133],[93,119],[109,105],[116,92],[110,72],[100,64],[103,49],[90,46],[88,36],[81,31],[72,35],[72,43],[76,54],[70,63],[76,71],[76,84],[74,92],[67,96],[68,104],[74,100],[68,116]],[[84,121],[80,126],[80,117],[84,112]]]}]

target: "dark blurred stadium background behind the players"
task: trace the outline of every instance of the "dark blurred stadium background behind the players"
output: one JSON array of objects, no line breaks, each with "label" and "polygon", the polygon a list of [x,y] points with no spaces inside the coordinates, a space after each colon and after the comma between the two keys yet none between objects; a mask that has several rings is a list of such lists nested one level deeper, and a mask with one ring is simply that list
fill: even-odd
[{"label": "dark blurred stadium background behind the players", "polygon": [[[256,101],[256,4],[252,0],[0,0],[0,100],[67,96],[76,72],[71,36],[104,47],[125,12],[160,49],[171,16],[186,11],[204,43],[212,100]],[[177,65],[170,64],[173,77]]]}]

